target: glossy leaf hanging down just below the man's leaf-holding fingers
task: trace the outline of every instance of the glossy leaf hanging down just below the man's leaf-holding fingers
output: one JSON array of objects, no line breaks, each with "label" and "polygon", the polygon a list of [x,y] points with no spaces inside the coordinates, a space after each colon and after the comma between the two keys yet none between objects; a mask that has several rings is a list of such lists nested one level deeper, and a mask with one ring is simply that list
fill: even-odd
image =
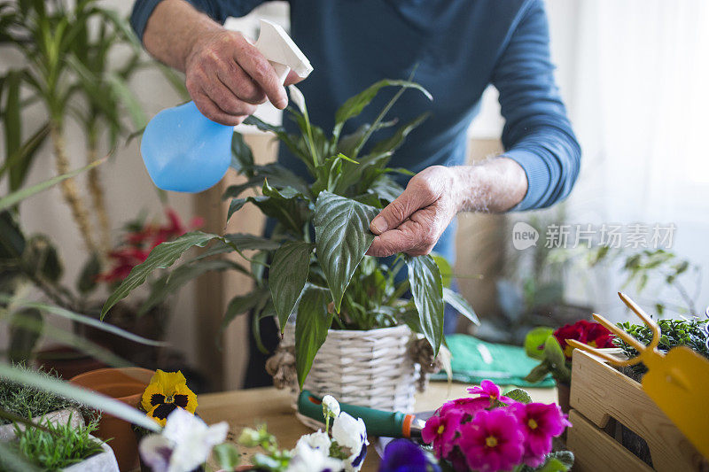
[{"label": "glossy leaf hanging down just below the man's leaf-holding fingers", "polygon": [[409,268],[411,298],[418,311],[424,336],[431,343],[433,354],[438,354],[443,341],[443,282],[438,265],[429,256],[406,257]]}]

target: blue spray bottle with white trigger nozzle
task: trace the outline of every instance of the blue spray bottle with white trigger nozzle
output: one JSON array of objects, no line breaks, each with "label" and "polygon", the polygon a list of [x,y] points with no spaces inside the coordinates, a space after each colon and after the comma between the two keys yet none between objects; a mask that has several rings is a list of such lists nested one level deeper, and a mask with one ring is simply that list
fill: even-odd
[{"label": "blue spray bottle with white trigger nozzle", "polygon": [[[283,83],[291,69],[300,77],[313,70],[308,58],[284,29],[261,19],[254,46],[276,70]],[[222,180],[231,162],[233,127],[220,125],[199,112],[194,102],[155,115],[140,144],[145,168],[162,190],[196,193]]]}]

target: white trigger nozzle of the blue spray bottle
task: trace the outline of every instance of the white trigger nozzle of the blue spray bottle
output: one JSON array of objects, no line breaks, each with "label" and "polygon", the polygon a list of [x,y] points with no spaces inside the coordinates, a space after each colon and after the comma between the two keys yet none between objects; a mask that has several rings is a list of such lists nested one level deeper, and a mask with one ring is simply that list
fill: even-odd
[{"label": "white trigger nozzle of the blue spray bottle", "polygon": [[285,81],[291,69],[302,78],[313,72],[310,61],[285,33],[283,27],[268,19],[261,19],[261,33],[254,46],[269,59],[281,83]]}]

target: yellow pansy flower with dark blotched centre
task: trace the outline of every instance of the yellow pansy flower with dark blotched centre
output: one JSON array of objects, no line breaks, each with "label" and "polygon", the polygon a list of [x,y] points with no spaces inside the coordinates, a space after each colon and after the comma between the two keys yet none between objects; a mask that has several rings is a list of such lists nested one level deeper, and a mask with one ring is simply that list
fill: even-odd
[{"label": "yellow pansy flower with dark blotched centre", "polygon": [[177,408],[194,414],[197,395],[187,387],[182,372],[163,372],[158,369],[143,392],[141,406],[155,422],[165,426],[168,414]]}]

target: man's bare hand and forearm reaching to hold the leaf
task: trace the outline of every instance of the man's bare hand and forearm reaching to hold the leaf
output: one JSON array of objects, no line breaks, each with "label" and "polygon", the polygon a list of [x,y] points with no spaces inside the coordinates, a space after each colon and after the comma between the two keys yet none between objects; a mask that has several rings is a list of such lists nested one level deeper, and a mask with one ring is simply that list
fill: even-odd
[{"label": "man's bare hand and forearm reaching to hold the leaf", "polygon": [[371,221],[377,237],[367,254],[428,254],[456,213],[506,212],[522,201],[526,186],[524,169],[505,157],[475,166],[428,167]]}]

